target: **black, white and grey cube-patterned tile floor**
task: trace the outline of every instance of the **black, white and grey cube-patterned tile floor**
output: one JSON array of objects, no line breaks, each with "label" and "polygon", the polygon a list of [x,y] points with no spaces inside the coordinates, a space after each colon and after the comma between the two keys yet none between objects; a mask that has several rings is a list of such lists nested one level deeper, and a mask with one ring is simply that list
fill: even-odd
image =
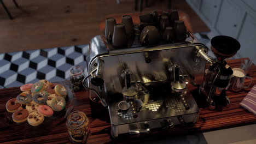
[{"label": "black, white and grey cube-patterned tile floor", "polygon": [[[201,43],[208,44],[207,33],[195,33]],[[85,68],[88,45],[52,49],[0,53],[0,88],[19,87],[38,80],[50,82],[69,79],[73,65]]]}]

